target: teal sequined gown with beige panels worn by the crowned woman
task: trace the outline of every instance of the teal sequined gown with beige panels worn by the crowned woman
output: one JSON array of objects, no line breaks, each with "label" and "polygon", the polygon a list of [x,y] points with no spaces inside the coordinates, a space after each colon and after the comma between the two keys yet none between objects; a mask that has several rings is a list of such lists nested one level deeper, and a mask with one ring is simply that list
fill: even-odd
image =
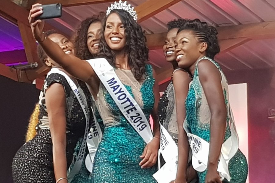
[{"label": "teal sequined gown with beige panels worn by the crowned woman", "polygon": [[[127,91],[141,106],[149,120],[154,106],[152,67],[146,65],[146,74],[138,82],[130,70],[115,69]],[[146,143],[128,123],[118,106],[100,84],[97,108],[104,123],[104,134],[94,159],[92,182],[94,183],[151,183],[156,167],[141,169],[141,161]]]}]

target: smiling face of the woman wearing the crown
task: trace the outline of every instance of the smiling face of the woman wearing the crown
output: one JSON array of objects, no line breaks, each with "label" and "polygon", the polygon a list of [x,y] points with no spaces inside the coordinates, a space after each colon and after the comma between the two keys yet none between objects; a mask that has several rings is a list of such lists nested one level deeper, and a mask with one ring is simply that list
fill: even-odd
[{"label": "smiling face of the woman wearing the crown", "polygon": [[122,51],[126,45],[125,27],[116,13],[111,13],[107,20],[104,31],[107,45],[114,51]]}]

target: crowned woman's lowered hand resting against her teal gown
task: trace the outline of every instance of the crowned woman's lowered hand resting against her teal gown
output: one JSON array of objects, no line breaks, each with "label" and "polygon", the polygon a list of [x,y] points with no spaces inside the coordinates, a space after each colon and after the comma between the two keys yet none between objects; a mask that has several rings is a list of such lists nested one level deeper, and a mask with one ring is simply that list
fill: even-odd
[{"label": "crowned woman's lowered hand resting against her teal gown", "polygon": [[141,166],[141,168],[150,168],[155,165],[158,157],[159,148],[160,139],[153,138],[152,141],[145,146],[144,151],[140,156],[140,158],[143,158],[143,160],[141,160],[139,166]]}]

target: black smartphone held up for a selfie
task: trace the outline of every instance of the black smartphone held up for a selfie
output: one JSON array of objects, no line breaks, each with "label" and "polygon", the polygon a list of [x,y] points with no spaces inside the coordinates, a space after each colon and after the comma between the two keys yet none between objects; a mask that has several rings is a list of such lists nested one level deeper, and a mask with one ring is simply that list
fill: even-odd
[{"label": "black smartphone held up for a selfie", "polygon": [[42,5],[43,13],[36,17],[36,20],[59,18],[62,15],[62,5],[61,3]]}]

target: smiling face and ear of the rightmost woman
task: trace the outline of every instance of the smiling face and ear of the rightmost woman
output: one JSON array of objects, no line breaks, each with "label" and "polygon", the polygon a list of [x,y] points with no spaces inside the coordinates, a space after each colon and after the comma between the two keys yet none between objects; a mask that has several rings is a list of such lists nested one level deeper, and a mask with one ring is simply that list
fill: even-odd
[{"label": "smiling face and ear of the rightmost woman", "polygon": [[182,30],[176,39],[176,61],[178,66],[188,68],[205,56],[206,42],[200,42],[193,30]]}]

